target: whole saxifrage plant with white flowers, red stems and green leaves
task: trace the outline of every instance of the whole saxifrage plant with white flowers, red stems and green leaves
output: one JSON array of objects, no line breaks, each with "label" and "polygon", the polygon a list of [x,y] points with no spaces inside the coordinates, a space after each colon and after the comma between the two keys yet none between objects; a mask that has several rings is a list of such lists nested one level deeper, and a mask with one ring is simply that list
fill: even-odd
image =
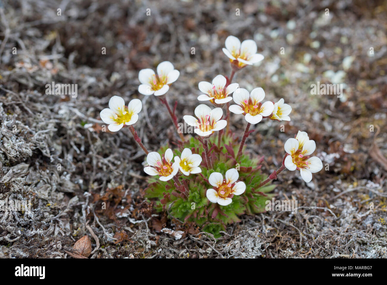
[{"label": "whole saxifrage plant with white flowers, red stems and green leaves", "polygon": [[[143,95],[155,95],[164,104],[170,114],[176,131],[180,136],[178,145],[172,150],[170,145],[162,146],[158,152],[149,152],[142,144],[133,124],[137,122],[142,109],[139,99],[133,99],[126,106],[123,98],[113,96],[109,108],[100,113],[110,131],[118,131],[128,126],[135,141],[147,154],[149,166],[144,171],[150,175],[145,195],[156,201],[158,211],[166,211],[170,218],[183,224],[196,225],[202,231],[221,236],[226,226],[240,221],[241,214],[255,214],[265,211],[265,201],[275,185],[271,181],[285,168],[300,170],[301,178],[312,180],[312,173],[322,169],[318,157],[310,157],[316,145],[309,140],[306,132],[298,131],[295,138],[289,138],[285,144],[285,154],[281,167],[268,177],[261,173],[263,157],[252,157],[245,151],[246,138],[253,130],[252,124],[263,119],[290,121],[292,108],[278,102],[262,102],[265,92],[254,88],[250,93],[232,83],[234,74],[240,69],[264,59],[257,54],[257,45],[253,40],[242,43],[235,36],[229,36],[223,48],[231,63],[231,75],[217,75],[212,83],[201,81],[198,97],[201,102],[209,102],[215,108],[205,104],[195,108],[194,116],[185,115],[183,119],[193,130],[194,136],[184,136],[175,115],[176,104],[172,109],[166,93],[180,73],[168,61],[161,62],[155,73],[152,69],[139,72],[138,91]],[[232,94],[232,97],[231,97]],[[235,104],[230,105],[231,100]],[[227,114],[224,119],[223,108]],[[230,112],[241,114],[247,121],[245,132],[239,142],[238,137],[228,128]]]}]

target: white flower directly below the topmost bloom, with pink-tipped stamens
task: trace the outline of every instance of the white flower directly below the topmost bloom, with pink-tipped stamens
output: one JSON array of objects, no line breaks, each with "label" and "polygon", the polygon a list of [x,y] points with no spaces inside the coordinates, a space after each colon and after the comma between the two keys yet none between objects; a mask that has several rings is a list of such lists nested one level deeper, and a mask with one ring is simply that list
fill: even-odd
[{"label": "white flower directly below the topmost bloom, with pink-tipped stamens", "polygon": [[211,103],[216,104],[225,104],[233,100],[230,95],[233,93],[236,88],[238,88],[238,83],[229,84],[226,88],[226,78],[223,75],[217,75],[212,79],[212,84],[206,81],[199,82],[199,90],[204,94],[197,97],[199,101],[211,101]]}]

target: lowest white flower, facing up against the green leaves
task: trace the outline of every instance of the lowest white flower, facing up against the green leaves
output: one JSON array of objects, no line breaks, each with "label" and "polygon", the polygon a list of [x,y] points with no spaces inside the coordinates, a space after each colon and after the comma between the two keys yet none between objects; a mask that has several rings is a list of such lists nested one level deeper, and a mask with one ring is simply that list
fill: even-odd
[{"label": "lowest white flower, facing up against the green leaves", "polygon": [[211,173],[208,178],[209,183],[214,186],[206,192],[207,199],[212,203],[218,203],[221,206],[227,206],[233,200],[234,195],[241,195],[246,190],[246,184],[242,181],[237,183],[239,173],[235,168],[226,171],[226,179],[219,172]]}]

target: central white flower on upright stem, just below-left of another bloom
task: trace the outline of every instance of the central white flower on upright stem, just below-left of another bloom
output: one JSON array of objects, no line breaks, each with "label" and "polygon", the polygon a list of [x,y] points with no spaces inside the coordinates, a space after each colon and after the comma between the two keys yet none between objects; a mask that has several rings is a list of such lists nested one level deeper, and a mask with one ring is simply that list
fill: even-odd
[{"label": "central white flower on upright stem, just below-left of another bloom", "polygon": [[209,136],[214,131],[222,130],[226,124],[226,120],[221,120],[223,116],[223,110],[221,108],[215,108],[211,110],[210,107],[204,104],[200,104],[195,108],[194,116],[185,115],[183,119],[189,126],[195,126],[195,133],[199,136]]}]

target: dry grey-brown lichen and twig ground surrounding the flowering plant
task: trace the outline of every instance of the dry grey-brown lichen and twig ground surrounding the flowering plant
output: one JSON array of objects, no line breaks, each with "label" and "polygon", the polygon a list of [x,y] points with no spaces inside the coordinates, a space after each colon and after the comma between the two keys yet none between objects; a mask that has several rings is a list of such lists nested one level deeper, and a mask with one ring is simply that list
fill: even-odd
[{"label": "dry grey-brown lichen and twig ground surrounding the flowering plant", "polygon": [[[34,209],[0,218],[0,257],[65,257],[90,235],[86,222],[104,245],[94,257],[386,257],[386,1],[0,0],[0,19],[0,200],[31,199]],[[152,211],[144,153],[129,130],[101,131],[99,112],[113,95],[139,98],[146,147],[173,143],[164,106],[137,92],[139,70],[169,60],[180,71],[167,95],[182,122],[198,83],[231,73],[229,35],[265,56],[234,82],[293,107],[290,122],[257,124],[247,149],[269,173],[284,142],[307,131],[324,168],[307,184],[296,171],[274,182],[277,199],[309,208],[243,217],[214,245]],[[77,84],[77,97],[46,94],[52,81]],[[313,94],[318,82],[342,84],[342,96]],[[243,117],[231,123],[242,135]]]}]

